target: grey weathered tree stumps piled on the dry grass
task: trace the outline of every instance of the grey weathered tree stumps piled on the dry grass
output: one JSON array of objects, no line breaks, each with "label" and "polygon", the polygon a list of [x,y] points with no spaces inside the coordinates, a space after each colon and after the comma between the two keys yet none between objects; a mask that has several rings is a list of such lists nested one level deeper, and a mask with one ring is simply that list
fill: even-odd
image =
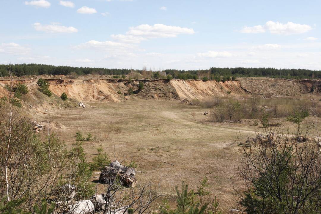
[{"label": "grey weathered tree stumps piled on the dry grass", "polygon": [[125,187],[134,187],[137,184],[135,174],[135,168],[125,167],[116,160],[100,172],[99,181],[103,184],[112,184],[118,178]]}]

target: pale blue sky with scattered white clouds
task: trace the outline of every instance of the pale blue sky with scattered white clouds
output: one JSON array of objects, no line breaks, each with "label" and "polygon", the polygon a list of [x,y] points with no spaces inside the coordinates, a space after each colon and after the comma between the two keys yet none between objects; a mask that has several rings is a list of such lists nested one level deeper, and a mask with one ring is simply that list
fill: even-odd
[{"label": "pale blue sky with scattered white clouds", "polygon": [[0,0],[0,64],[321,70],[321,1]]}]

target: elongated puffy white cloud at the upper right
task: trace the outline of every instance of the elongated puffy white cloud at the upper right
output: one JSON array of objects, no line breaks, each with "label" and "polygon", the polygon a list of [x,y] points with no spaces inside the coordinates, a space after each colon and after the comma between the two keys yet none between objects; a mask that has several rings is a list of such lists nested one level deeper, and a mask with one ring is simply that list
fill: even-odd
[{"label": "elongated puffy white cloud at the upper right", "polygon": [[274,21],[268,21],[264,25],[256,25],[254,27],[243,27],[241,33],[264,33],[269,31],[273,34],[297,34],[305,33],[312,30],[312,27],[307,24],[298,24],[291,21],[286,24]]}]

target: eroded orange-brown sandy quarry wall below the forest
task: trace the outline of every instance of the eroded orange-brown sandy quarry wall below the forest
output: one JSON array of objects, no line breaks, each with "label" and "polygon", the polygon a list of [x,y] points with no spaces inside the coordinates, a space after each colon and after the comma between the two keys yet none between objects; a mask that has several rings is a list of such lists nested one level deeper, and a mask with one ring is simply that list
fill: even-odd
[{"label": "eroded orange-brown sandy quarry wall below the forest", "polygon": [[[36,90],[37,78],[19,80],[31,90]],[[68,97],[82,101],[103,100],[120,101],[132,88],[137,97],[145,99],[203,99],[206,97],[224,97],[229,95],[274,95],[296,96],[321,91],[319,80],[286,80],[273,78],[239,78],[237,81],[202,81],[202,80],[118,80],[118,79],[48,79],[50,90],[60,96],[63,92]],[[144,89],[138,90],[139,82]],[[4,92],[7,80],[0,80],[0,96]]]}]

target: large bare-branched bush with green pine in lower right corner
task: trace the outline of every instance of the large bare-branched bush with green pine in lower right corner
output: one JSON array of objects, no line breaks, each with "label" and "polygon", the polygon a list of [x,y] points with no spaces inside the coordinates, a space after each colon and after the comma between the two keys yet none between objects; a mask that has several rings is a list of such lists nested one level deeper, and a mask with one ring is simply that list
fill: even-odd
[{"label": "large bare-branched bush with green pine in lower right corner", "polygon": [[[264,129],[243,150],[238,192],[245,213],[320,213],[321,170],[317,143],[293,143],[280,129]],[[249,140],[249,139],[247,139]],[[248,149],[250,147],[250,149]]]}]

